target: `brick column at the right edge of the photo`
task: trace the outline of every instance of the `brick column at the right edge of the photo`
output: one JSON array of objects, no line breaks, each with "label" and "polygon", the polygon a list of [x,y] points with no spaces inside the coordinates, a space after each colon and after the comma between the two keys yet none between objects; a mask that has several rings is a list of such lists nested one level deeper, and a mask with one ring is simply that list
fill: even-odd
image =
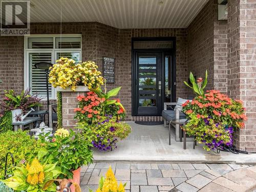
[{"label": "brick column at the right edge of the photo", "polygon": [[228,1],[228,95],[244,101],[245,129],[234,144],[256,152],[256,0]]}]

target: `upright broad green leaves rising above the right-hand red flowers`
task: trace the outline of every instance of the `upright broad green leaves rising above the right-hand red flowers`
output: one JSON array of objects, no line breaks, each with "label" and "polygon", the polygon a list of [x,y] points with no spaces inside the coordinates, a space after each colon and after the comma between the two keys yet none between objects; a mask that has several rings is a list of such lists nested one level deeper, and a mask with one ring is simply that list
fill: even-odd
[{"label": "upright broad green leaves rising above the right-hand red flowers", "polygon": [[197,78],[197,81],[196,81],[193,73],[190,72],[189,80],[192,84],[192,87],[186,81],[184,81],[184,83],[187,87],[191,88],[196,95],[204,95],[204,88],[206,87],[206,84],[207,84],[207,77],[208,77],[208,74],[207,74],[207,70],[206,70],[204,81],[203,81],[203,78],[201,78],[201,77]]}]

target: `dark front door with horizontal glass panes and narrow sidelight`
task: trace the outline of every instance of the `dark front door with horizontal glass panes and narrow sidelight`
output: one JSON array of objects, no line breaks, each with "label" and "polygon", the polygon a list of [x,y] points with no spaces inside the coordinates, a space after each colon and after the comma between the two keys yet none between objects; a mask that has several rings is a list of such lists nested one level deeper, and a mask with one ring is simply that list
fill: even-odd
[{"label": "dark front door with horizontal glass panes and narrow sidelight", "polygon": [[164,51],[135,51],[135,115],[161,115],[172,100],[172,56]]}]

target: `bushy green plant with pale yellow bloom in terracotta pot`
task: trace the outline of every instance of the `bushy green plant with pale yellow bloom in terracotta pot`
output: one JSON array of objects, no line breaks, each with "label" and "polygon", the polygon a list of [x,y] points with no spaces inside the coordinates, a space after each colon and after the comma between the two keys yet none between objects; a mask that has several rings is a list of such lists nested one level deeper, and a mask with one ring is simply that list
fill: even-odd
[{"label": "bushy green plant with pale yellow bloom in terracotta pot", "polygon": [[59,178],[71,179],[73,170],[92,163],[92,144],[81,134],[58,129],[54,137],[46,137],[48,134],[40,136],[40,141],[46,148],[38,152],[38,159],[44,163],[56,163],[56,166],[61,167]]}]

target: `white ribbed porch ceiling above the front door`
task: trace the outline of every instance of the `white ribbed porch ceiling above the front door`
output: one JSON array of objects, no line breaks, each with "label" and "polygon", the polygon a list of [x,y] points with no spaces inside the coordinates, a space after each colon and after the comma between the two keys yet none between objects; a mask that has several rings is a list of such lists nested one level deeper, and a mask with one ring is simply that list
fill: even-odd
[{"label": "white ribbed porch ceiling above the front door", "polygon": [[99,22],[120,29],[186,28],[208,0],[31,0],[31,22]]}]

